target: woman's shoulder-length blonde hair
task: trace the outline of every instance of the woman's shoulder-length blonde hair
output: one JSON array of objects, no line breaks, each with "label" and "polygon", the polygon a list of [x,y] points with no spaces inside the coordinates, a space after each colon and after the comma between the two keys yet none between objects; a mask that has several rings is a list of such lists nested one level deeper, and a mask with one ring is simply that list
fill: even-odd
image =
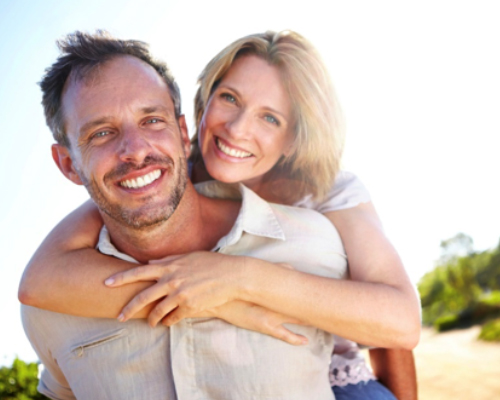
[{"label": "woman's shoulder-length blonde hair", "polygon": [[[243,37],[207,64],[198,78],[191,161],[202,162],[198,134],[210,95],[233,62],[244,55],[255,55],[279,69],[295,121],[292,151],[278,161],[265,179],[287,182],[290,190],[288,194],[281,193],[283,202],[290,203],[307,194],[321,199],[333,185],[340,168],[344,144],[342,113],[318,52],[292,31],[268,31]],[[286,185],[276,187],[281,190],[282,186]]]}]

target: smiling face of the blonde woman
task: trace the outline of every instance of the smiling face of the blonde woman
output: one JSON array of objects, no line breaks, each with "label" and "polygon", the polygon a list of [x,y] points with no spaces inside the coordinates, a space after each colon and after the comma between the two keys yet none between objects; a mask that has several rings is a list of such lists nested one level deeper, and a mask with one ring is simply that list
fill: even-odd
[{"label": "smiling face of the blonde woman", "polygon": [[254,55],[238,58],[212,93],[200,124],[208,173],[257,190],[292,143],[290,99],[277,67]]}]

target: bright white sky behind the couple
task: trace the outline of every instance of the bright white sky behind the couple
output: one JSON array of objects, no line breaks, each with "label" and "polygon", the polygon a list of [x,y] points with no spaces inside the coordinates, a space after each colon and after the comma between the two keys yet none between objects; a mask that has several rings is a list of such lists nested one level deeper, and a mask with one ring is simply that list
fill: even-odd
[{"label": "bright white sky behind the couple", "polygon": [[465,232],[486,249],[500,237],[498,7],[495,0],[1,1],[0,365],[16,354],[36,360],[19,320],[18,282],[51,227],[87,197],[53,164],[36,85],[57,57],[57,38],[103,28],[150,43],[177,77],[192,121],[197,75],[224,46],[268,29],[306,36],[345,112],[344,166],[368,187],[417,282],[441,240]]}]

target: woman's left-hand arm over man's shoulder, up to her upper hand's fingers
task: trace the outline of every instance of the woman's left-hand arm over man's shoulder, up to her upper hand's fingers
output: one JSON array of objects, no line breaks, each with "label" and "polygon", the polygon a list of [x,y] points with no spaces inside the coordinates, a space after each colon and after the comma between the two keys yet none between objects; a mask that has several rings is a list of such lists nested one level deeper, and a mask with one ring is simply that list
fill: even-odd
[{"label": "woman's left-hand arm over man's shoulder, up to her upper hand's fingers", "polygon": [[71,315],[116,318],[137,292],[150,286],[151,282],[140,282],[111,291],[103,284],[109,275],[136,264],[95,250],[102,224],[90,200],[64,218],[26,267],[18,293],[21,303]]}]

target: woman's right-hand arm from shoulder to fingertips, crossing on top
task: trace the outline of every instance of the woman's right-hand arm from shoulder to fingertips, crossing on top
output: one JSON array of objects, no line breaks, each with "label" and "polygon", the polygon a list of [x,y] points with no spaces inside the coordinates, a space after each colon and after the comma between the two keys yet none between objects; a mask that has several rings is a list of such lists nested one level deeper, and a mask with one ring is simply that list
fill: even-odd
[{"label": "woman's right-hand arm from shoulder to fingertips, crossing on top", "polygon": [[114,286],[158,281],[125,307],[124,319],[165,294],[149,316],[153,325],[167,314],[165,322],[173,324],[204,308],[243,300],[359,343],[415,347],[420,334],[416,291],[371,203],[326,216],[340,232],[353,280],[323,278],[250,257],[197,252],[115,276]]}]

